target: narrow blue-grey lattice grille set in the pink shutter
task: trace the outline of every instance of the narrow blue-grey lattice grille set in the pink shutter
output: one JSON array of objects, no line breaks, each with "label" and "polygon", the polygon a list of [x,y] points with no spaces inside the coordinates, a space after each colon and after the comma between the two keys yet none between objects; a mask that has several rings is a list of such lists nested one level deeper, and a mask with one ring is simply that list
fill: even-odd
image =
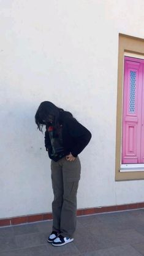
[{"label": "narrow blue-grey lattice grille set in the pink shutter", "polygon": [[134,113],[135,112],[135,80],[136,80],[136,72],[131,71],[130,72],[130,102],[129,102],[129,112]]}]

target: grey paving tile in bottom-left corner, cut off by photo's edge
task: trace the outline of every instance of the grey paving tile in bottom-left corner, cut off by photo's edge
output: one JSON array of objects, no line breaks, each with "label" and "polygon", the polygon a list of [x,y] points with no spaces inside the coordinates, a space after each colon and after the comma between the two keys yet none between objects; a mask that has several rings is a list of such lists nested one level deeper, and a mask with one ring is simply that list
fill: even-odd
[{"label": "grey paving tile in bottom-left corner, cut off by photo's edge", "polygon": [[52,256],[46,246],[29,247],[20,250],[1,252],[1,256]]}]

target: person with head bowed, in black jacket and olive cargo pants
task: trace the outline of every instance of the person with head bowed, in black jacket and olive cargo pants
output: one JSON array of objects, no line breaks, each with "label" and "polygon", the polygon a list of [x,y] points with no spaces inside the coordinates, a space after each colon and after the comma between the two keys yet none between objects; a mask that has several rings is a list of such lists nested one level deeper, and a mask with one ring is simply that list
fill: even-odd
[{"label": "person with head bowed, in black jacket and olive cargo pants", "polygon": [[78,154],[91,139],[91,133],[70,112],[50,101],[39,105],[37,128],[45,125],[45,148],[51,159],[53,229],[48,242],[63,246],[74,241],[77,221],[77,189],[81,165]]}]

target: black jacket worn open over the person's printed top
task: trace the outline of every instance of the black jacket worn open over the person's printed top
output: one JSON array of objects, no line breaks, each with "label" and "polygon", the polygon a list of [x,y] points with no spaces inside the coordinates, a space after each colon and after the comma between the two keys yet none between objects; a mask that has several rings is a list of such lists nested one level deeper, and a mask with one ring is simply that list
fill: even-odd
[{"label": "black jacket worn open over the person's printed top", "polygon": [[[78,121],[72,117],[69,112],[61,111],[59,112],[58,118],[59,125],[62,126],[62,139],[64,147],[64,155],[69,155],[70,152],[74,157],[77,157],[81,151],[86,147],[91,139],[91,133],[83,125],[78,123]],[[50,136],[48,133],[48,126],[46,126],[45,131],[45,147],[48,151],[50,159],[55,162],[59,160],[59,157],[53,157]],[[64,157],[63,155],[63,157]]]}]

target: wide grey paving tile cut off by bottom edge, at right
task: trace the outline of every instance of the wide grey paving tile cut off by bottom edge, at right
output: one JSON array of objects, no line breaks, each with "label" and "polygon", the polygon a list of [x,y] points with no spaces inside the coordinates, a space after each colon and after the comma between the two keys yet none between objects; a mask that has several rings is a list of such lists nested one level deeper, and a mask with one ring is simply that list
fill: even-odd
[{"label": "wide grey paving tile cut off by bottom edge, at right", "polygon": [[131,246],[118,246],[104,250],[96,250],[95,252],[88,252],[81,256],[142,256]]}]

